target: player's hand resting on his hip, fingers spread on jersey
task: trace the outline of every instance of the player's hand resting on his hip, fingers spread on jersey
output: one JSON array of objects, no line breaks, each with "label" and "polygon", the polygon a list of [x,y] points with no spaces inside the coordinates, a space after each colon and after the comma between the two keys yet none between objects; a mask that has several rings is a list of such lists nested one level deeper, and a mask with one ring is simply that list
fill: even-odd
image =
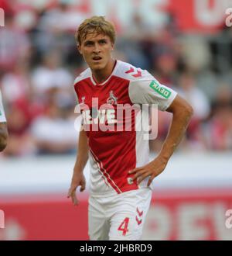
[{"label": "player's hand resting on his hip, fingers spread on jersey", "polygon": [[129,171],[129,174],[135,174],[133,180],[137,179],[137,183],[139,184],[145,178],[150,176],[148,180],[148,186],[151,185],[153,178],[160,175],[162,171],[165,169],[167,165],[167,161],[163,160],[161,157],[156,157],[155,160],[150,163],[142,166],[140,168],[135,168]]}]

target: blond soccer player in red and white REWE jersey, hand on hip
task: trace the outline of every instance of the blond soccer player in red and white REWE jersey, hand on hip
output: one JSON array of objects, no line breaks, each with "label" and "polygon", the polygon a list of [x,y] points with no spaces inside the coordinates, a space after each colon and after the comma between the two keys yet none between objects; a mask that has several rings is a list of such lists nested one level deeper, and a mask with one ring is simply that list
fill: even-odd
[{"label": "blond soccer player in red and white REWE jersey, hand on hip", "polygon": [[[152,180],[164,171],[182,139],[193,109],[171,88],[159,84],[148,71],[114,60],[114,26],[101,16],[84,20],[77,29],[77,48],[89,68],[74,81],[84,127],[67,197],[78,205],[76,190],[84,191],[84,166],[90,161],[88,233],[90,240],[139,240],[152,197]],[[98,109],[96,104],[98,103]],[[95,102],[94,102],[95,101]],[[135,130],[138,112],[131,113],[131,131],[112,130],[128,122],[116,113],[121,106],[157,104],[172,112],[162,150],[149,162],[148,140]],[[99,110],[101,109],[101,110]],[[126,107],[125,107],[126,109]],[[97,120],[110,127],[94,130]],[[134,127],[134,128],[133,128]]]}]

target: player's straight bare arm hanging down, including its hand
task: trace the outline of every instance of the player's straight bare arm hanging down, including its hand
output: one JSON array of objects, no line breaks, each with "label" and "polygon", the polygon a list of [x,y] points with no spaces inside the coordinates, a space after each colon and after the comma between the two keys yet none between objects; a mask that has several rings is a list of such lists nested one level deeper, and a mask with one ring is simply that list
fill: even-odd
[{"label": "player's straight bare arm hanging down, including its hand", "polygon": [[71,180],[70,189],[67,197],[72,199],[73,205],[77,206],[79,201],[77,199],[76,190],[80,186],[80,192],[85,189],[84,167],[88,160],[89,146],[87,141],[87,135],[84,130],[80,131],[79,142],[77,147],[77,160],[73,168],[73,178]]}]

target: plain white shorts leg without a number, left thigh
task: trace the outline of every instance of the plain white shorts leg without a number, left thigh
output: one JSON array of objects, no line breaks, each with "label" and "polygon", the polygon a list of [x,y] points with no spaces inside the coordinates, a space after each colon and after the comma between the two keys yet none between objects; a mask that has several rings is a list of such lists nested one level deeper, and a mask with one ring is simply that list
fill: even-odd
[{"label": "plain white shorts leg without a number, left thigh", "polygon": [[97,199],[90,197],[88,209],[88,234],[90,240],[108,240],[109,228],[101,203],[97,202]]}]

